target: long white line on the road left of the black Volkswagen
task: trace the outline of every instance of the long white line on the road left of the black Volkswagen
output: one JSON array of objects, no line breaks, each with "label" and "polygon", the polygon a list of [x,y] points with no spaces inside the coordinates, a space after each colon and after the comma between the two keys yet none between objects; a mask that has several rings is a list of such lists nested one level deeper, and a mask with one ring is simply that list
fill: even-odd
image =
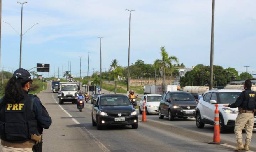
[{"label": "long white line on the road left of the black Volkswagen", "polygon": [[[52,94],[53,97],[53,94]],[[58,102],[56,101],[56,99],[53,97],[55,103],[58,104]],[[59,105],[59,104],[58,104]],[[60,109],[62,109],[69,117],[72,117],[65,109],[63,109],[63,107],[61,105],[59,105]],[[78,122],[75,118],[72,118],[72,120],[76,123],[76,124],[80,124],[80,122]],[[81,127],[84,131],[87,132],[87,134],[89,134],[89,136],[91,136],[91,138],[94,140],[94,142],[96,142],[96,144],[101,148],[101,150],[103,152],[110,152],[110,150],[104,146],[94,135],[92,135],[92,133],[87,130],[85,127]]]}]

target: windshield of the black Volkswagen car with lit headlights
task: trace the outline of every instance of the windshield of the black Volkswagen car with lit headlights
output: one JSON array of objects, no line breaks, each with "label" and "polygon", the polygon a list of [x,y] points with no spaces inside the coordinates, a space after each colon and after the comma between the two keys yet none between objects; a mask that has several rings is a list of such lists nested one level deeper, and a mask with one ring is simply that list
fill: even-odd
[{"label": "windshield of the black Volkswagen car with lit headlights", "polygon": [[100,105],[116,106],[116,105],[132,105],[127,97],[101,97]]}]

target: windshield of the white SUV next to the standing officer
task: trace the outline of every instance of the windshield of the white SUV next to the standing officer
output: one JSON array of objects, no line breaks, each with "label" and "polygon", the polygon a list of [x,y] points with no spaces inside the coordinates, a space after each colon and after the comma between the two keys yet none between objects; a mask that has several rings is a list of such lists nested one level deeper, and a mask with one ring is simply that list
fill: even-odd
[{"label": "windshield of the white SUV next to the standing officer", "polygon": [[233,104],[236,98],[241,94],[241,92],[222,92],[219,93],[219,103],[220,104]]}]

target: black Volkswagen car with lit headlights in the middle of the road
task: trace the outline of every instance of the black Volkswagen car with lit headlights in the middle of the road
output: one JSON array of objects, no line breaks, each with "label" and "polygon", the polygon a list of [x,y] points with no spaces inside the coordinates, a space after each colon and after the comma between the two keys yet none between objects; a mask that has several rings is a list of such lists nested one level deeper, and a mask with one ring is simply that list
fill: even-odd
[{"label": "black Volkswagen car with lit headlights in the middle of the road", "polygon": [[138,113],[126,95],[102,94],[92,106],[92,125],[102,129],[107,125],[132,125],[138,128]]}]

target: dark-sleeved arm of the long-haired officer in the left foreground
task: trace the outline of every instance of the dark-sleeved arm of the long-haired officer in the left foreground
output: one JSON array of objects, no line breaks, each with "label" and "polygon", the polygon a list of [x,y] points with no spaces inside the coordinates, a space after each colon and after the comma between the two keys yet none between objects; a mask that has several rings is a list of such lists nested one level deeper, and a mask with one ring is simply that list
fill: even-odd
[{"label": "dark-sleeved arm of the long-haired officer in the left foreground", "polygon": [[52,124],[52,118],[49,116],[46,108],[42,105],[39,98],[35,97],[33,110],[39,125],[44,129],[48,129]]}]

